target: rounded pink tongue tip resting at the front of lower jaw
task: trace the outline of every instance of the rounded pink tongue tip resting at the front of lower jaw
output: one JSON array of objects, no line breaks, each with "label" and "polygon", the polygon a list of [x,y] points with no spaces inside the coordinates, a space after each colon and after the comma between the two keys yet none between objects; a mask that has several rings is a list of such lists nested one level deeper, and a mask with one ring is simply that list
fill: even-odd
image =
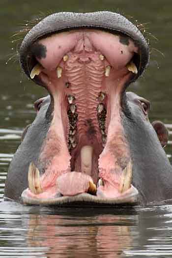
[{"label": "rounded pink tongue tip resting at the front of lower jaw", "polygon": [[95,194],[96,187],[89,175],[81,172],[67,172],[58,176],[57,190],[63,196],[74,196],[87,192]]}]

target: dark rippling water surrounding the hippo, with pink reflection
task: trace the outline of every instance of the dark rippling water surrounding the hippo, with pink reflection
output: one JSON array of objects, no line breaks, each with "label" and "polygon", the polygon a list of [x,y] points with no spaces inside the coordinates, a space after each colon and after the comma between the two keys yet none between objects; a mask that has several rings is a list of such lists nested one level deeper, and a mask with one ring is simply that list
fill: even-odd
[{"label": "dark rippling water surrounding the hippo, with pink reflection", "polygon": [[143,24],[150,66],[130,90],[151,101],[150,121],[162,120],[172,134],[171,0],[0,0],[0,257],[172,257],[172,205],[57,209],[3,202],[9,162],[35,116],[33,102],[46,95],[21,73],[20,36],[11,36],[40,12],[96,10],[118,11]]}]

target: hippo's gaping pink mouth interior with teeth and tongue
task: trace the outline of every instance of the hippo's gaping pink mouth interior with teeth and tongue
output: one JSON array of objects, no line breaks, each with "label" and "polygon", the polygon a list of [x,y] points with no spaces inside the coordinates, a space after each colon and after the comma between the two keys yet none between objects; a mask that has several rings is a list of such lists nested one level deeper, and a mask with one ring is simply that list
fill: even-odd
[{"label": "hippo's gaping pink mouth interior with teeth and tongue", "polygon": [[51,95],[51,123],[37,164],[29,166],[23,201],[137,201],[122,125],[125,89],[141,67],[137,43],[121,33],[72,29],[30,49],[29,76]]}]

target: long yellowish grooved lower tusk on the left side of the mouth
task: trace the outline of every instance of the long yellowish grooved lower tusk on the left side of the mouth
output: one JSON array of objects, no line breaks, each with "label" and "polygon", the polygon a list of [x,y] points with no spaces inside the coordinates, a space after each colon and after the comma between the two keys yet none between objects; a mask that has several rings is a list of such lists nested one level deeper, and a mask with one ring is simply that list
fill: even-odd
[{"label": "long yellowish grooved lower tusk on the left side of the mouth", "polygon": [[32,162],[29,165],[28,185],[29,185],[30,191],[33,194],[42,193],[39,170],[36,168],[36,166]]}]

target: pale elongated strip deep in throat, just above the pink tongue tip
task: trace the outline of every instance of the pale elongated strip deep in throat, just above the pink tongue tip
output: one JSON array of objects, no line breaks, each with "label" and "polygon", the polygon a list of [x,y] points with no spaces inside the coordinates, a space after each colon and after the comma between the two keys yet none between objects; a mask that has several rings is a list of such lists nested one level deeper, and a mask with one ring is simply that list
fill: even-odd
[{"label": "pale elongated strip deep in throat, just above the pink tongue tip", "polygon": [[81,171],[91,175],[93,147],[85,145],[81,148]]}]

